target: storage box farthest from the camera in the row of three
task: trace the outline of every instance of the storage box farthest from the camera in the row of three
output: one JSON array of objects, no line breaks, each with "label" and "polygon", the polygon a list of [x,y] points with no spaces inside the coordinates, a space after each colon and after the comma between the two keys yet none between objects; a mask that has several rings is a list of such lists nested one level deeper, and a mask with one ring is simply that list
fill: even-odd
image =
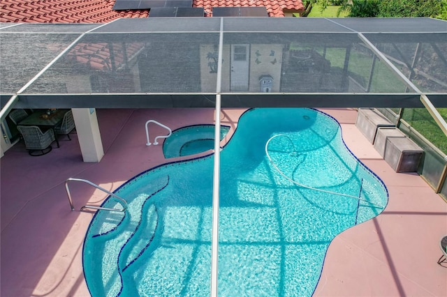
[{"label": "storage box farthest from the camera in the row of three", "polygon": [[374,144],[377,128],[395,127],[395,125],[376,109],[360,108],[357,113],[356,127],[370,143]]}]

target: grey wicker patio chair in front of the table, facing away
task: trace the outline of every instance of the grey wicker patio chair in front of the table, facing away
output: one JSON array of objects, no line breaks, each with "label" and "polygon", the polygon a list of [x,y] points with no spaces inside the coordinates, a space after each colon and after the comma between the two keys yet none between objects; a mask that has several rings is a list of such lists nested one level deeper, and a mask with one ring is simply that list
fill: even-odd
[{"label": "grey wicker patio chair in front of the table, facing away", "polygon": [[[22,134],[25,147],[30,155],[45,155],[52,150],[51,144],[56,140],[52,129],[42,132],[41,128],[36,125],[17,125],[17,129]],[[36,151],[40,151],[40,153],[36,153]]]}]

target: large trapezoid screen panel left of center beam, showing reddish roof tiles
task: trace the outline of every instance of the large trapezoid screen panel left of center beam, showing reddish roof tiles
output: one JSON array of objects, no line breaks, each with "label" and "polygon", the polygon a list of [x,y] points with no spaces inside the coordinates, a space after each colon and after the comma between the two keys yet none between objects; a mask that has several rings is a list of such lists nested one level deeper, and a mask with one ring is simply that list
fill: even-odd
[{"label": "large trapezoid screen panel left of center beam, showing reddish roof tiles", "polygon": [[214,92],[206,56],[217,44],[218,33],[87,34],[25,93]]}]

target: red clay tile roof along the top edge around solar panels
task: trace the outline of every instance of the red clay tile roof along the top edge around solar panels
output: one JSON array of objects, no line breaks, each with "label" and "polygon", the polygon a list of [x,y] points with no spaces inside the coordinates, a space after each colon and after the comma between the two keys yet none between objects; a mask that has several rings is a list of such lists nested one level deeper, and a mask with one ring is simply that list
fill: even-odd
[{"label": "red clay tile roof along the top edge around solar panels", "polygon": [[[147,17],[149,10],[112,10],[115,0],[1,0],[0,22],[105,23],[122,17]],[[270,17],[284,9],[300,11],[302,0],[193,0],[212,16],[212,7],[267,8]]]}]

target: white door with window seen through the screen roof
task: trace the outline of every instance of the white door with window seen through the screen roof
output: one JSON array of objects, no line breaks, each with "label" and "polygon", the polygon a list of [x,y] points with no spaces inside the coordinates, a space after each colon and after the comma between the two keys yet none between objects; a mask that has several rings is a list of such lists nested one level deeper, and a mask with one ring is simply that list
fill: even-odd
[{"label": "white door with window seen through the screen roof", "polygon": [[249,89],[249,45],[231,45],[230,91]]}]

